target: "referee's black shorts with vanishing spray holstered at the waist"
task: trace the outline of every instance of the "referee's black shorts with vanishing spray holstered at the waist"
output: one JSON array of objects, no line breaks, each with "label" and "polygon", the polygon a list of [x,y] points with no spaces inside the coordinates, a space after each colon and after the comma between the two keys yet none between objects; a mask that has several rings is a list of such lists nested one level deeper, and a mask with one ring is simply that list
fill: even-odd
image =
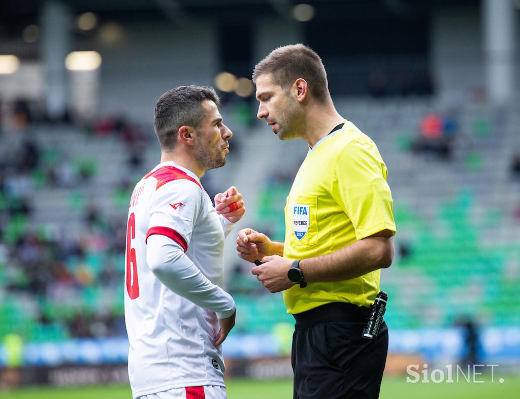
[{"label": "referee's black shorts with vanishing spray holstered at the waist", "polygon": [[388,328],[361,337],[367,308],[333,302],[294,315],[294,399],[375,399],[388,352]]}]

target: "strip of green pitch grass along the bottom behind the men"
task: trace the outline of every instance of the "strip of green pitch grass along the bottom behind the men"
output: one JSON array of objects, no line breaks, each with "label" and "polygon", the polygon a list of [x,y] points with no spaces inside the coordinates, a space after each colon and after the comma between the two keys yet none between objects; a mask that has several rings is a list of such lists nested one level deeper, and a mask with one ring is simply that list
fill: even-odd
[{"label": "strip of green pitch grass along the bottom behind the men", "polygon": [[[489,399],[491,397],[509,399],[518,397],[520,376],[504,375],[500,383],[491,377],[483,377],[484,383],[406,383],[406,377],[387,377],[383,380],[380,399]],[[230,379],[227,382],[229,399],[291,399],[291,380],[245,380]],[[0,399],[131,399],[129,387],[82,387],[82,388],[24,388],[9,391],[0,390]],[[318,398],[317,398],[318,399]]]}]

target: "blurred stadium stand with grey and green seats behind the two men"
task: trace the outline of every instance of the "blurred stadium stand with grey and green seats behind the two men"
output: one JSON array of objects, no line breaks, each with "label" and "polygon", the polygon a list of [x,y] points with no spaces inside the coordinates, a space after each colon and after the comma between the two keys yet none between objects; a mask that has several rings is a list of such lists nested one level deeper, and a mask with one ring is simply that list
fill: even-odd
[{"label": "blurred stadium stand with grey and green seats behind the two men", "polygon": [[[496,110],[478,103],[453,110],[425,98],[336,105],[373,138],[389,170],[399,234],[394,265],[382,272],[387,323],[451,326],[472,317],[520,324],[520,304],[511,300],[520,282],[520,181],[512,167],[520,150],[518,103]],[[449,156],[415,151],[421,119],[446,110]],[[222,113],[233,114],[226,107]],[[228,119],[240,152],[204,184],[210,195],[228,181],[239,187],[248,201],[242,225],[283,240],[285,196],[305,144],[274,142],[263,124]],[[136,136],[114,123],[93,126],[29,123],[0,136],[0,339],[125,335],[129,191],[157,163],[159,149],[151,131],[129,129]],[[251,162],[265,172],[252,176],[244,167]],[[239,309],[232,334],[292,322],[281,295],[258,287],[232,245],[226,261]]]}]

